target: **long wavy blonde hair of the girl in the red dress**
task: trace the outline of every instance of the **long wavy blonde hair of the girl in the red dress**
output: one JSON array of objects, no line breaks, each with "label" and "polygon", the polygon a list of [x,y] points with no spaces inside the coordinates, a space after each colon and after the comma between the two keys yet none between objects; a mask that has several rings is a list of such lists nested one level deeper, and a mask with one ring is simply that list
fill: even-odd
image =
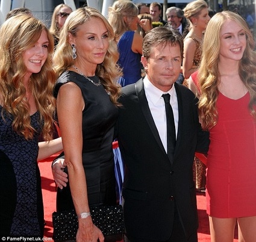
[{"label": "long wavy blonde hair of the girl in the red dress", "polygon": [[254,39],[245,20],[237,13],[222,11],[215,14],[207,25],[202,45],[202,61],[198,81],[201,88],[199,118],[202,128],[210,129],[217,123],[216,101],[219,95],[220,30],[227,19],[236,21],[246,34],[246,49],[240,60],[239,75],[250,94],[249,110],[256,118],[256,55]]}]

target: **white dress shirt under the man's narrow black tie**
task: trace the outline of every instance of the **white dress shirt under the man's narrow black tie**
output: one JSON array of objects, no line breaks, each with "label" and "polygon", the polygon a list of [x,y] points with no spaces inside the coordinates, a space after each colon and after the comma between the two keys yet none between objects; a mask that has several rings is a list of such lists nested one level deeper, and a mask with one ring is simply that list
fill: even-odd
[{"label": "white dress shirt under the man's narrow black tie", "polygon": [[174,123],[175,123],[175,132],[177,137],[178,131],[178,99],[176,95],[176,90],[174,84],[172,88],[168,92],[163,92],[155,87],[145,76],[143,79],[145,95],[148,99],[149,109],[151,110],[152,117],[155,122],[155,126],[157,126],[158,133],[160,135],[161,141],[163,143],[164,149],[167,153],[167,128],[166,128],[166,110],[164,99],[162,97],[163,94],[169,93],[170,95],[170,105],[172,106]]}]

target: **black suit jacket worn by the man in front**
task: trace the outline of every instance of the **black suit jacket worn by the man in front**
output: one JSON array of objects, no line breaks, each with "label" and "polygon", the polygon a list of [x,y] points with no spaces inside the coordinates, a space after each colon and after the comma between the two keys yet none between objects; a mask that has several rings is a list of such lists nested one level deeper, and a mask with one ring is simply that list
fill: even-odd
[{"label": "black suit jacket worn by the man in front", "polygon": [[195,151],[207,152],[208,134],[201,131],[193,93],[175,83],[178,134],[173,162],[167,157],[149,110],[140,79],[122,88],[116,132],[125,163],[125,227],[144,240],[168,240],[176,208],[189,238],[198,228],[192,165]]}]

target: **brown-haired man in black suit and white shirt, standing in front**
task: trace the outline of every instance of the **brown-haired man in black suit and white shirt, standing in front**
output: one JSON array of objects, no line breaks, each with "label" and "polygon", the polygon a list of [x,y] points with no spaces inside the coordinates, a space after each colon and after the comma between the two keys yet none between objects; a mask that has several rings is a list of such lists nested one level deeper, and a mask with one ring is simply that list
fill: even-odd
[{"label": "brown-haired man in black suit and white shirt, standing in front", "polygon": [[[125,163],[126,235],[132,242],[198,241],[192,166],[195,151],[206,153],[209,141],[198,122],[195,96],[175,82],[182,57],[179,34],[152,29],[143,40],[145,78],[122,88],[116,132]],[[166,93],[176,135],[175,150],[168,155]]]}]

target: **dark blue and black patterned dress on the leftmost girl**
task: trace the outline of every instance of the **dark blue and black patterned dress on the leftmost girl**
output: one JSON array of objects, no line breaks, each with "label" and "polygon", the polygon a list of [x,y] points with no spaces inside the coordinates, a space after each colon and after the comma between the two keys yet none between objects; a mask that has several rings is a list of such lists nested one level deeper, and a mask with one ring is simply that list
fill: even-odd
[{"label": "dark blue and black patterned dress on the leftmost girl", "polygon": [[40,114],[31,116],[32,140],[13,131],[13,116],[0,106],[0,235],[43,237],[43,199],[37,165]]}]

